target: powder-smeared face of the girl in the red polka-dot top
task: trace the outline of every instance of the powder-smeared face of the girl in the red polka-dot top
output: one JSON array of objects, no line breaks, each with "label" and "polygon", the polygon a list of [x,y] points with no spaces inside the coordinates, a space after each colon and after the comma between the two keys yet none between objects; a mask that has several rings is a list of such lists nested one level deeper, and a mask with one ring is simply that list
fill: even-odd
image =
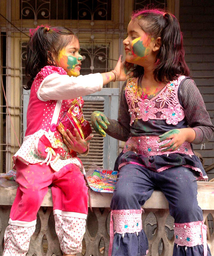
[{"label": "powder-smeared face of the girl in the red polka-dot top", "polygon": [[80,75],[83,57],[79,52],[80,45],[79,41],[76,40],[60,50],[58,56],[54,58],[57,66],[62,67],[67,72],[68,76]]}]

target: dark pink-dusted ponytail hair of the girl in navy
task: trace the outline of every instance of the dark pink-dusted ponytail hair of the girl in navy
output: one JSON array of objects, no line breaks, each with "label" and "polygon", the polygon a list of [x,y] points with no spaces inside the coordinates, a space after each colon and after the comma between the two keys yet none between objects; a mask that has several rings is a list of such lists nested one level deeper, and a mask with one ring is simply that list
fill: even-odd
[{"label": "dark pink-dusted ponytail hair of the girl in navy", "polygon": [[[154,78],[156,81],[173,81],[180,75],[189,76],[185,61],[183,36],[176,17],[160,9],[134,11],[131,20],[151,37],[161,37],[161,47],[156,55]],[[144,68],[137,65],[134,76],[144,74]]]}]

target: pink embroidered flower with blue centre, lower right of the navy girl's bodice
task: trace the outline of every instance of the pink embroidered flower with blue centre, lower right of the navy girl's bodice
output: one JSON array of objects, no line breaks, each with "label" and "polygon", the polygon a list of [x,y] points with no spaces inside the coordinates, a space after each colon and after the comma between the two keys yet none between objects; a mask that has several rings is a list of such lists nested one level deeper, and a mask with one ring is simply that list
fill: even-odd
[{"label": "pink embroidered flower with blue centre, lower right of the navy girl's bodice", "polygon": [[184,118],[184,110],[181,109],[179,104],[176,106],[169,105],[168,108],[163,108],[161,112],[163,113],[161,119],[166,119],[167,124],[176,125]]}]

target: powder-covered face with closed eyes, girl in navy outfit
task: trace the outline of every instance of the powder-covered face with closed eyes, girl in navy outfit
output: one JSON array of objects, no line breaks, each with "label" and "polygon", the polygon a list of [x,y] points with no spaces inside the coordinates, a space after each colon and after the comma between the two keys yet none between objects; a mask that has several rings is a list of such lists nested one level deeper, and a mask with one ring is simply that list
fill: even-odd
[{"label": "powder-covered face with closed eyes, girl in navy outfit", "polygon": [[148,36],[135,20],[131,20],[127,28],[128,36],[123,41],[126,61],[144,66],[152,54],[153,38]]}]

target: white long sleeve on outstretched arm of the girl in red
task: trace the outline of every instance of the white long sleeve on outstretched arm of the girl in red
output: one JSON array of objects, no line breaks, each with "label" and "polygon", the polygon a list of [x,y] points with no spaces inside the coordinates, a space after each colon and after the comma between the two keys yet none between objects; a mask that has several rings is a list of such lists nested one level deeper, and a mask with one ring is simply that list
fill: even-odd
[{"label": "white long sleeve on outstretched arm of the girl in red", "polygon": [[37,97],[40,100],[69,100],[98,92],[103,87],[100,73],[85,76],[68,76],[52,73],[40,84]]}]

